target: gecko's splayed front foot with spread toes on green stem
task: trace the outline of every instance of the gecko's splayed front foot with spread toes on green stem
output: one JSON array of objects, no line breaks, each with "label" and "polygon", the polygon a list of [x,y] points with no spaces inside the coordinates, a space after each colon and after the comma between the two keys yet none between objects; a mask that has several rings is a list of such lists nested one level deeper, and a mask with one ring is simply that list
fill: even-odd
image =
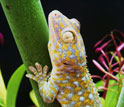
[{"label": "gecko's splayed front foot with spread toes on green stem", "polygon": [[41,81],[47,81],[48,66],[45,65],[43,68],[39,63],[35,63],[35,67],[29,66],[29,70],[33,74],[26,74],[26,77],[40,83]]}]

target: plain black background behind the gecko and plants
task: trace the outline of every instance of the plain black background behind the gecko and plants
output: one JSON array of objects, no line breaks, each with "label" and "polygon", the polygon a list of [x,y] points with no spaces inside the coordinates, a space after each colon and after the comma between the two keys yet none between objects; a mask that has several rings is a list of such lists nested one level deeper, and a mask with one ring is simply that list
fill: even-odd
[{"label": "plain black background behind the gecko and plants", "polygon": [[[91,74],[99,74],[92,63],[92,59],[97,59],[93,45],[113,29],[124,32],[123,0],[41,0],[41,2],[46,18],[49,12],[57,9],[65,16],[75,17],[80,21],[88,56],[88,68]],[[0,68],[7,85],[10,76],[22,64],[22,60],[1,7],[0,32],[5,38],[4,46],[0,46]],[[24,77],[17,97],[17,107],[32,105],[28,94],[30,90],[30,83]]]}]

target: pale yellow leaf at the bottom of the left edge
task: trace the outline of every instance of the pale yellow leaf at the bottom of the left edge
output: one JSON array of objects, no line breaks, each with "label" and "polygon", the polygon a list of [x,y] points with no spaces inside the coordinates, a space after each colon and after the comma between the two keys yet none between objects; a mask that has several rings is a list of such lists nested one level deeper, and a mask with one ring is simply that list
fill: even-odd
[{"label": "pale yellow leaf at the bottom of the left edge", "polygon": [[6,102],[6,87],[0,70],[0,98],[3,100],[4,104]]}]

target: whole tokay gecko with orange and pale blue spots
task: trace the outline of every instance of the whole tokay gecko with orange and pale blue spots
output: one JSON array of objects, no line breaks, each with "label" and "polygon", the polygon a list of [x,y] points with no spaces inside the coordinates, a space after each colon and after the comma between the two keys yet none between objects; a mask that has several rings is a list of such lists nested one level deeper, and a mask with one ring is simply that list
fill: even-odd
[{"label": "whole tokay gecko with orange and pale blue spots", "polygon": [[27,74],[39,86],[46,103],[55,98],[62,107],[102,107],[100,98],[86,65],[86,53],[80,34],[80,23],[68,19],[57,10],[49,14],[48,49],[53,69],[35,63],[30,66],[34,74]]}]

